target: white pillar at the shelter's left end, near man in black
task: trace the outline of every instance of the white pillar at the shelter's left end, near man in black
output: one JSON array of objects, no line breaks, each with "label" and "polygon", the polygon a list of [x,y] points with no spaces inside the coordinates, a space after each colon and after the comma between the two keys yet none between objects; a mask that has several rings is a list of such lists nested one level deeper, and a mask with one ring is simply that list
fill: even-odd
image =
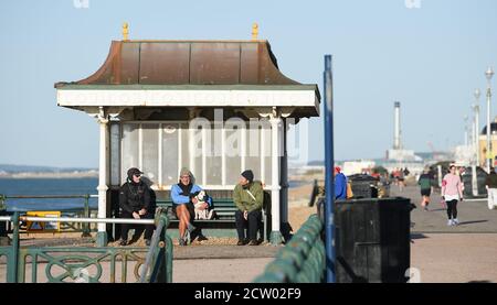
[{"label": "white pillar at the shelter's left end, near man in black", "polygon": [[[107,217],[107,155],[108,155],[108,117],[105,115],[104,108],[99,108],[98,113],[99,124],[99,163],[98,163],[98,218]],[[97,232],[98,247],[107,246],[107,230],[105,224],[98,224]]]}]

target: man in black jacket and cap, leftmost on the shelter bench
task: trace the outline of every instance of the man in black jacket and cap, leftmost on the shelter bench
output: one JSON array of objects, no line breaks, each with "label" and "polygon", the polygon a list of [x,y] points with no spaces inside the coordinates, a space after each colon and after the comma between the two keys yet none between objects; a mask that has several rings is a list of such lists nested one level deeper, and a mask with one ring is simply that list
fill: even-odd
[{"label": "man in black jacket and cap, leftmost on the shelter bench", "polygon": [[[151,189],[140,179],[141,174],[136,167],[128,170],[128,178],[119,190],[120,218],[154,219],[150,200]],[[129,224],[121,225],[120,246],[128,244],[128,231],[131,225]],[[145,226],[145,243],[147,246],[150,246],[154,229],[154,225]],[[137,240],[138,238],[135,236],[133,240]]]}]

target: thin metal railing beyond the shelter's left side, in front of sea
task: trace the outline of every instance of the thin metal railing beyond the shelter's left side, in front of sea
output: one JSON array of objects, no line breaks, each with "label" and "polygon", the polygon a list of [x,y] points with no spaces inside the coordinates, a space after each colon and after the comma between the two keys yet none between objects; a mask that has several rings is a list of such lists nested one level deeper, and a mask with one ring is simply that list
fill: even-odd
[{"label": "thin metal railing beyond the shelter's left side, in front of sea", "polygon": [[[7,209],[7,201],[9,199],[84,199],[83,200],[83,216],[86,218],[91,217],[91,209],[89,209],[89,198],[98,198],[98,195],[15,195],[15,196],[7,196],[0,194],[0,210]],[[31,203],[27,203],[31,204]],[[39,209],[43,210],[43,209]],[[64,213],[72,213],[75,210],[81,210],[77,208],[68,208],[63,209]],[[64,225],[68,225],[70,222],[64,222]],[[68,229],[72,229],[73,231],[82,231],[82,237],[91,237],[91,222],[82,222],[82,228],[78,229],[75,226],[68,225]]]}]

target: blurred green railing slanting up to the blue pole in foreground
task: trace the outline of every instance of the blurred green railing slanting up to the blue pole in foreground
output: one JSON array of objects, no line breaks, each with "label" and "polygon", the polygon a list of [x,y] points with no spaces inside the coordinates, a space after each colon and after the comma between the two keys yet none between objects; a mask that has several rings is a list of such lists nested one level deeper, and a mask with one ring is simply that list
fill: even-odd
[{"label": "blurred green railing slanting up to the blue pole in foreground", "polygon": [[290,241],[279,250],[255,283],[320,283],[325,280],[324,226],[311,215]]}]

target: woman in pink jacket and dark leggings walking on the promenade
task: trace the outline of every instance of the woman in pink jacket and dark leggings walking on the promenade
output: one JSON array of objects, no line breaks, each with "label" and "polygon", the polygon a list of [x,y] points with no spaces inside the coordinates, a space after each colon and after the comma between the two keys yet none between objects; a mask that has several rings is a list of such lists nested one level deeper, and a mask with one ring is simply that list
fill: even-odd
[{"label": "woman in pink jacket and dark leggings walking on the promenade", "polygon": [[442,181],[442,198],[447,204],[447,226],[457,226],[457,201],[463,201],[463,184],[459,175],[455,173],[455,165],[448,167],[450,173]]}]

